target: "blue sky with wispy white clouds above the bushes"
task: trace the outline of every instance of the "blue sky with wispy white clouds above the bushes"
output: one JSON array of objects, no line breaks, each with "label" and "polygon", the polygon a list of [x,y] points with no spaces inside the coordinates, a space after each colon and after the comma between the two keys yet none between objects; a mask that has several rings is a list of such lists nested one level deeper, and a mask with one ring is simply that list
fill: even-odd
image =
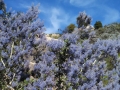
[{"label": "blue sky with wispy white clouds above the bushes", "polygon": [[92,17],[92,25],[101,21],[103,25],[120,22],[120,0],[4,0],[7,9],[26,12],[34,3],[40,3],[39,18],[44,21],[46,33],[76,24],[76,17],[85,11]]}]

